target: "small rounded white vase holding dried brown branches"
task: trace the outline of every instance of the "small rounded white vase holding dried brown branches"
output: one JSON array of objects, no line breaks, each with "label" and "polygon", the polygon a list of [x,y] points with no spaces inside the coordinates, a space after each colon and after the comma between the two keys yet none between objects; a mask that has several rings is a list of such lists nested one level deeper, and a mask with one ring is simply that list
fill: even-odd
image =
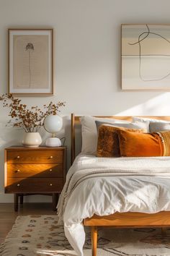
[{"label": "small rounded white vase holding dried brown branches", "polygon": [[42,143],[42,139],[39,132],[25,132],[22,140],[24,147],[37,148]]}]

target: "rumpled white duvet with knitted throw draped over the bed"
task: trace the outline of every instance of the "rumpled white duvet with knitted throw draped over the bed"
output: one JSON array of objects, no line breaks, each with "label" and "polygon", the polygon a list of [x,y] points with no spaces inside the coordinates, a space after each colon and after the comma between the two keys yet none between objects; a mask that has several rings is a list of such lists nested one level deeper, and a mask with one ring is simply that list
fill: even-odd
[{"label": "rumpled white duvet with knitted throw draped over the bed", "polygon": [[95,214],[170,210],[170,157],[96,158],[79,155],[68,171],[58,216],[78,255],[83,255],[82,221]]}]

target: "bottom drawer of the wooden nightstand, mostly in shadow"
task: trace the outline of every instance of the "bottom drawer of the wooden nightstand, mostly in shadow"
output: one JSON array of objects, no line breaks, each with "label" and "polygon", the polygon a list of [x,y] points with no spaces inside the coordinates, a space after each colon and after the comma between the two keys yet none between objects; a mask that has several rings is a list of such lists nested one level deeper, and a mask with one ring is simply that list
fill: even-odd
[{"label": "bottom drawer of the wooden nightstand, mostly in shadow", "polygon": [[62,178],[9,178],[5,191],[11,193],[48,193],[61,192],[62,188]]}]

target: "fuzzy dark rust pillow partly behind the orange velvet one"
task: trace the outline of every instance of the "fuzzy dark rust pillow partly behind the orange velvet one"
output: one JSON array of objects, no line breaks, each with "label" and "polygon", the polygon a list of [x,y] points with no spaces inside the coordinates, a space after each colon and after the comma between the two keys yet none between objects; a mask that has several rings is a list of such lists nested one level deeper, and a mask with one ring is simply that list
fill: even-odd
[{"label": "fuzzy dark rust pillow partly behind the orange velvet one", "polygon": [[120,145],[117,131],[126,130],[143,132],[143,129],[129,129],[124,127],[112,127],[106,124],[99,127],[97,142],[97,157],[118,157],[120,156]]}]

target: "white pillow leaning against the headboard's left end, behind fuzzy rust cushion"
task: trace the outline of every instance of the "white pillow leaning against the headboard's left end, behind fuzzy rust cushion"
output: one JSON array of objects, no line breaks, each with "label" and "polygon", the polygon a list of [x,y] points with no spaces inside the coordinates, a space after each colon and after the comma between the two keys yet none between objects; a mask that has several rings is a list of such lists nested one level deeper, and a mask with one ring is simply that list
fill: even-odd
[{"label": "white pillow leaning against the headboard's left end, behind fuzzy rust cushion", "polygon": [[81,153],[95,155],[97,152],[97,126],[95,121],[104,121],[112,124],[128,124],[129,121],[120,119],[98,118],[82,116],[81,119],[82,147]]}]

